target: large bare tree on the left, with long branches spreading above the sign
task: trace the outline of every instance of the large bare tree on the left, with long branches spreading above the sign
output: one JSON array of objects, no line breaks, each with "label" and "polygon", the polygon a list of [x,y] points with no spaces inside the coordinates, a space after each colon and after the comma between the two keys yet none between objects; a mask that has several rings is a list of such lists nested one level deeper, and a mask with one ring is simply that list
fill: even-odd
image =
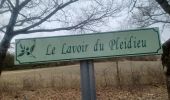
[{"label": "large bare tree on the left, with long branches spreading above the sign", "polygon": [[11,39],[19,34],[90,30],[115,17],[116,0],[1,0],[0,72]]}]

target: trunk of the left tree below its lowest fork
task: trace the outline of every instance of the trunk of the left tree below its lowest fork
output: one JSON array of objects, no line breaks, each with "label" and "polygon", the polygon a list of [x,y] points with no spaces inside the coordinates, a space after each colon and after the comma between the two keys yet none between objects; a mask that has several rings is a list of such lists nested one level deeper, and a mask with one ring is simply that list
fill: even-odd
[{"label": "trunk of the left tree below its lowest fork", "polygon": [[5,34],[5,36],[3,37],[0,43],[0,76],[3,70],[4,60],[5,60],[8,48],[10,46],[11,39],[12,39],[12,36]]}]

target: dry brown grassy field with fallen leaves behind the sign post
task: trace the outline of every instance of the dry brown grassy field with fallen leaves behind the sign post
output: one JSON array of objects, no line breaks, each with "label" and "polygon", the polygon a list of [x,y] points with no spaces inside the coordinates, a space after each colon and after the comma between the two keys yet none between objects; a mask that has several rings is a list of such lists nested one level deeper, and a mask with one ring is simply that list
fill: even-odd
[{"label": "dry brown grassy field with fallen leaves behind the sign post", "polygon": [[[159,61],[95,63],[98,100],[167,100]],[[79,65],[6,71],[0,100],[80,100]]]}]

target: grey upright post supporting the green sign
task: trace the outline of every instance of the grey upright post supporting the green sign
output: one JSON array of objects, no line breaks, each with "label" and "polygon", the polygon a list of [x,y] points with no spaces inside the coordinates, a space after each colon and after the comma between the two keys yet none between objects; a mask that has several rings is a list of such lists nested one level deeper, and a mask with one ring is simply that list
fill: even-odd
[{"label": "grey upright post supporting the green sign", "polygon": [[80,61],[82,100],[96,100],[94,64],[92,60]]}]

